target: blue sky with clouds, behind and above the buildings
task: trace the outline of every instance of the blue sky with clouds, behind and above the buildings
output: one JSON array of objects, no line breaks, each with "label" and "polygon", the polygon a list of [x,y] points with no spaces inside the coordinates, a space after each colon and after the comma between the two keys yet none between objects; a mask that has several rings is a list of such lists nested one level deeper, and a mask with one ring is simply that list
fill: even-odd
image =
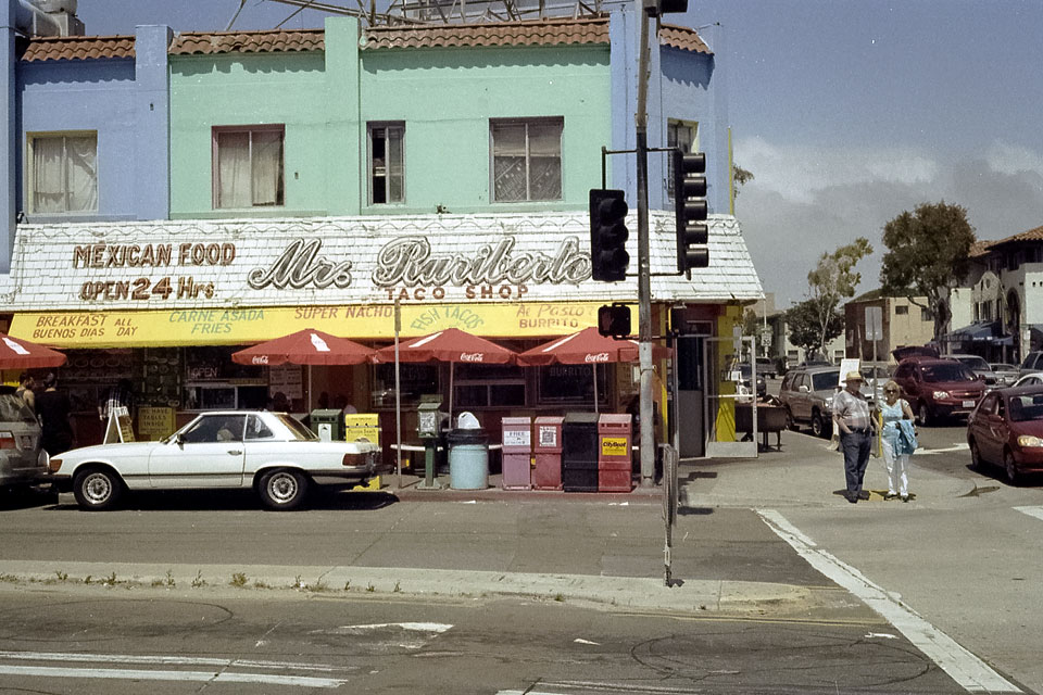
[{"label": "blue sky with clouds, behind and above the buildings", "polygon": [[[239,7],[79,0],[78,15],[88,34],[224,30]],[[247,0],[233,28],[327,16],[294,11]],[[879,287],[883,226],[920,203],[964,206],[979,239],[1043,226],[1043,0],[689,0],[668,21],[720,25],[734,161],[754,175],[736,214],[777,307],[857,237],[875,249],[858,291]]]}]

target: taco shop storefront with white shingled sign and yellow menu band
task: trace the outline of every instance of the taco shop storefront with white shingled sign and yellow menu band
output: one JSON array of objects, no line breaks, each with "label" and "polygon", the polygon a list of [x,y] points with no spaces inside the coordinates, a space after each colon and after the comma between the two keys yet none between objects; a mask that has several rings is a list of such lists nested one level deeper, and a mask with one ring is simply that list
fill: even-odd
[{"label": "taco shop storefront with white shingled sign and yellow menu band", "polygon": [[[737,225],[717,226],[733,231],[722,237],[741,251],[741,271],[716,286],[720,275],[655,278],[657,334],[679,309],[730,334],[742,301],[759,295]],[[653,271],[667,269],[673,233],[653,241]],[[80,443],[92,443],[98,399],[124,378],[135,384],[142,437],[200,409],[264,407],[276,392],[300,413],[341,402],[393,410],[390,365],[305,370],[229,357],[297,330],[380,346],[393,341],[398,312],[402,340],[452,327],[520,352],[595,325],[602,304],[637,298],[636,279],[590,279],[588,219],[578,213],[23,225],[16,248],[10,332],[67,352],[59,374],[80,414]],[[669,368],[656,366],[664,383]],[[491,430],[501,416],[589,410],[594,372],[600,409],[621,412],[638,391],[629,365],[458,365],[454,409]],[[402,365],[401,378],[407,413],[448,383],[440,365]]]}]

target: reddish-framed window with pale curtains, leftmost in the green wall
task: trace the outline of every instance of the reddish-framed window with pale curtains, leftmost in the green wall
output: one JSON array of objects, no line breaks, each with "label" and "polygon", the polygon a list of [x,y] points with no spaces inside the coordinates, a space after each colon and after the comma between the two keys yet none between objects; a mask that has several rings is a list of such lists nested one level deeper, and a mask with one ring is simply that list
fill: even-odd
[{"label": "reddish-framed window with pale curtains, leftmost in the green wall", "polygon": [[215,127],[214,207],[284,204],[281,125]]}]

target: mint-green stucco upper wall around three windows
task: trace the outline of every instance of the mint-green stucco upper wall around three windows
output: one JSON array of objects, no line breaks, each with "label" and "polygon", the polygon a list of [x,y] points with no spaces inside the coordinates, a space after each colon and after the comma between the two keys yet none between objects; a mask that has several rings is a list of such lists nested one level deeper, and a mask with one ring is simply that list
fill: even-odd
[{"label": "mint-green stucco upper wall around three windows", "polygon": [[[611,138],[608,45],[171,56],[171,216],[205,218],[579,210]],[[561,201],[491,203],[490,119],[564,119]],[[405,203],[368,205],[366,127],[405,126]],[[285,126],[285,205],[214,210],[213,126]]]}]

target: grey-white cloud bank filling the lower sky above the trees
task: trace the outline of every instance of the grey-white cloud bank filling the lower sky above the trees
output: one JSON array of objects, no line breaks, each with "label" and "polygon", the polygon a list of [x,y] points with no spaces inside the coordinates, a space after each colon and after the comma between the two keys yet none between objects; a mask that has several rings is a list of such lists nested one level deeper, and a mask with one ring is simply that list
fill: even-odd
[{"label": "grey-white cloud bank filling the lower sky above the trees", "polygon": [[754,175],[737,214],[765,291],[800,301],[818,256],[866,237],[859,292],[879,287],[883,226],[920,203],[967,208],[979,239],[1043,225],[1043,152],[996,141],[970,159],[935,161],[912,150],[826,149],[742,140],[736,161]]}]

